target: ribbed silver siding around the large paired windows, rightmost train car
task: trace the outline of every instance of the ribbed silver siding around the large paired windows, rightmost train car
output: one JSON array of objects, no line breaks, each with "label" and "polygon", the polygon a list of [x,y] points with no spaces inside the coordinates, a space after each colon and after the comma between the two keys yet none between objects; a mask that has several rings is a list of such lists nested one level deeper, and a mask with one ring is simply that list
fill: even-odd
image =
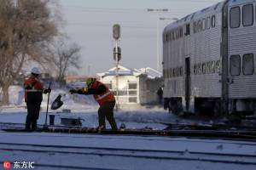
[{"label": "ribbed silver siding around the large paired windows, rightmost train car", "polygon": [[[255,1],[254,1],[255,2]],[[255,23],[255,3],[254,6],[254,24],[253,26],[243,27],[229,30],[229,57],[233,54],[241,56],[241,75],[230,75],[230,98],[245,99],[256,98],[256,23]],[[242,7],[242,5],[241,5]],[[254,74],[244,76],[242,72],[242,56],[243,54],[254,54]]]}]

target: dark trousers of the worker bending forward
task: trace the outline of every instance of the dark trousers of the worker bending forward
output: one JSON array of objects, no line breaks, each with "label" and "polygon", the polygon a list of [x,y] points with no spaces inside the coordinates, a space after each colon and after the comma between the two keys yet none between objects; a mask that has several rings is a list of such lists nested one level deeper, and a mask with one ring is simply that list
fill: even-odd
[{"label": "dark trousers of the worker bending forward", "polygon": [[107,118],[112,130],[117,130],[116,122],[113,118],[113,107],[115,101],[103,103],[98,110],[99,127],[106,128],[105,117]]}]

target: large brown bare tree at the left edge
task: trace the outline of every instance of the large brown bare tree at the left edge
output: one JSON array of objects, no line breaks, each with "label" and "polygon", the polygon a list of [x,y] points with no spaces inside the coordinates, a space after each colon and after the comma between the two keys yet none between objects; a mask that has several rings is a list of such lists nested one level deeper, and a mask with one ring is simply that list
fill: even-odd
[{"label": "large brown bare tree at the left edge", "polygon": [[58,35],[49,0],[0,0],[0,86],[3,105],[9,104],[9,86],[26,61],[47,65],[49,46]]}]

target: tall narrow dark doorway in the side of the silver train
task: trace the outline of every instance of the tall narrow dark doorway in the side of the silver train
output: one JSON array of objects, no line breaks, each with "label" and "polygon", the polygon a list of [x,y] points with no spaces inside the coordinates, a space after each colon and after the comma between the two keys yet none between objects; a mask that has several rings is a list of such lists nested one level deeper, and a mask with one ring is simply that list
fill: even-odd
[{"label": "tall narrow dark doorway in the side of the silver train", "polygon": [[190,58],[185,59],[185,101],[186,111],[189,111],[189,100],[191,90],[191,78],[190,78]]}]

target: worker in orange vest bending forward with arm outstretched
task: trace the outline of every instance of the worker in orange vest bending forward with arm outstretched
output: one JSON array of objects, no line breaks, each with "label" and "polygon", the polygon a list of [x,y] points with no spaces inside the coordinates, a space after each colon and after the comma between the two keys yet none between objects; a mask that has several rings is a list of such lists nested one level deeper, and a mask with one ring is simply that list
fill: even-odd
[{"label": "worker in orange vest bending forward with arm outstretched", "polygon": [[112,127],[112,130],[117,130],[117,125],[113,117],[113,108],[115,105],[115,99],[113,94],[109,91],[108,87],[102,82],[96,81],[96,78],[86,79],[86,88],[81,88],[79,90],[71,89],[71,94],[93,94],[94,99],[100,105],[98,110],[98,122],[99,129],[106,128],[105,117]]}]

